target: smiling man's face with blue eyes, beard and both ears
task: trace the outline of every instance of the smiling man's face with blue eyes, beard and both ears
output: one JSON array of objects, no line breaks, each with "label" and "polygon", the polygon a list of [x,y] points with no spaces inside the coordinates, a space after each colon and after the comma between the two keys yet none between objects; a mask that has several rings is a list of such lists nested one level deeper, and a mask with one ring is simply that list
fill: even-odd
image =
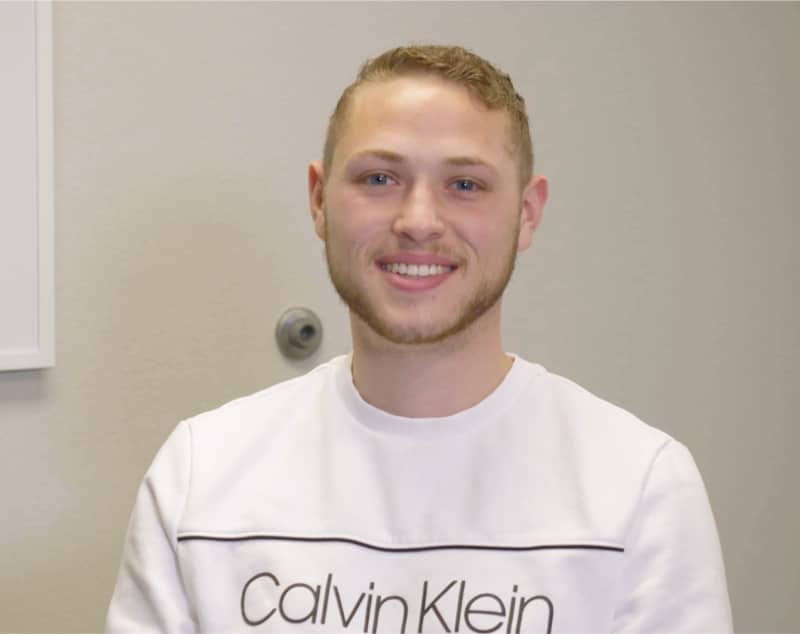
[{"label": "smiling man's face with blue eyes, beard and both ears", "polygon": [[546,195],[534,181],[520,193],[508,129],[505,112],[438,78],[356,91],[330,173],[314,164],[309,182],[331,279],[355,324],[394,343],[431,343],[499,311]]}]

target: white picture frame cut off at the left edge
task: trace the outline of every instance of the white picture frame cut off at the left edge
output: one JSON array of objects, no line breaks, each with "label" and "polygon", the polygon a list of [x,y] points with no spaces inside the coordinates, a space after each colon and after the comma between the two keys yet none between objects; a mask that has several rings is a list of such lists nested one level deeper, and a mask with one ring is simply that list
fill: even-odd
[{"label": "white picture frame cut off at the left edge", "polygon": [[0,371],[55,365],[50,2],[0,2]]}]

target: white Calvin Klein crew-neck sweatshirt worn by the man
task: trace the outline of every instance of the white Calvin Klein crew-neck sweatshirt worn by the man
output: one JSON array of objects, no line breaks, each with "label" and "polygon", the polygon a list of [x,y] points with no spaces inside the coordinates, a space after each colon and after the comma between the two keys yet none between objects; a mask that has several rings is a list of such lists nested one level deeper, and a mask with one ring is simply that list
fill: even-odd
[{"label": "white Calvin Klein crew-neck sweatshirt worn by the man", "polygon": [[176,428],[108,631],[732,631],[683,445],[520,358],[433,419],[366,403],[349,360]]}]

